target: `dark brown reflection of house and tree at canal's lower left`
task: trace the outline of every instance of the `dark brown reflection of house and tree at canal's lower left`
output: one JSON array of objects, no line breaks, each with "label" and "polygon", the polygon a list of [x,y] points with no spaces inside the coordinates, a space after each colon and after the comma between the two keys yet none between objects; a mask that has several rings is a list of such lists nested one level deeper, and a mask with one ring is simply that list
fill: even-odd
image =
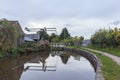
[{"label": "dark brown reflection of house and tree at canal's lower left", "polygon": [[19,80],[24,66],[18,63],[15,59],[0,62],[0,80]]}]

